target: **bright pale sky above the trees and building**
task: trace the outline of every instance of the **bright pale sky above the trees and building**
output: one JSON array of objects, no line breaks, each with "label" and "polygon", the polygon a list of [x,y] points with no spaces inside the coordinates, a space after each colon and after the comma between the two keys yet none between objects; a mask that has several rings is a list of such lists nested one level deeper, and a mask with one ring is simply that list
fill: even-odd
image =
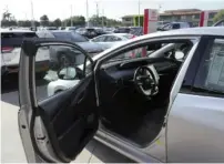
[{"label": "bright pale sky above the trees and building", "polygon": [[84,16],[86,18],[86,1],[89,4],[89,17],[96,13],[111,19],[121,19],[126,14],[143,14],[144,9],[164,10],[175,9],[224,9],[224,0],[0,0],[0,13],[8,9],[17,20],[31,19],[31,1],[33,3],[33,16],[39,20],[47,14],[50,20],[57,18],[65,19],[71,16]]}]

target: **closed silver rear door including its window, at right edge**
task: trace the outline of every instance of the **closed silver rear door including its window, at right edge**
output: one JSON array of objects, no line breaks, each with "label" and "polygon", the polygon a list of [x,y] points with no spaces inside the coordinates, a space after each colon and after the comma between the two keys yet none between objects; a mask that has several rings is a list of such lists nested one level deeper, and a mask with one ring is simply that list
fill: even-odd
[{"label": "closed silver rear door including its window, at right edge", "polygon": [[167,162],[224,161],[223,45],[222,37],[202,37],[179,82],[167,120]]}]

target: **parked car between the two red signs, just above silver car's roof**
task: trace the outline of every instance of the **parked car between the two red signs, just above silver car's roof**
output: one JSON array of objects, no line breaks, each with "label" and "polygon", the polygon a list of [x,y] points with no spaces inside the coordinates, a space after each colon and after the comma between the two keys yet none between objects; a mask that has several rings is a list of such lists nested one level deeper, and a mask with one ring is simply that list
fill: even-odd
[{"label": "parked car between the two red signs, just above silver car's roof", "polygon": [[163,27],[159,27],[157,31],[170,31],[170,30],[177,30],[177,29],[185,29],[191,28],[189,22],[171,22]]}]

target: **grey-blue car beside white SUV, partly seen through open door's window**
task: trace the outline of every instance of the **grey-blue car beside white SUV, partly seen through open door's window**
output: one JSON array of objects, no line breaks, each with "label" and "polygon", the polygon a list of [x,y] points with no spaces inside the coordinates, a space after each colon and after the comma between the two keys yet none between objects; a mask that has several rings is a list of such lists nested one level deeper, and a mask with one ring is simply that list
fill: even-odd
[{"label": "grey-blue car beside white SUV, partly seen through open door's window", "polygon": [[[104,47],[94,42],[90,42],[85,37],[72,31],[55,30],[55,31],[40,31],[37,33],[40,38],[57,38],[59,40],[77,43],[84,51],[86,51],[90,57],[94,57],[95,54],[105,50]],[[71,59],[73,58],[71,55],[73,55],[74,53],[71,51],[72,51],[71,49],[50,47],[51,69],[54,70],[64,64],[72,63]]]}]

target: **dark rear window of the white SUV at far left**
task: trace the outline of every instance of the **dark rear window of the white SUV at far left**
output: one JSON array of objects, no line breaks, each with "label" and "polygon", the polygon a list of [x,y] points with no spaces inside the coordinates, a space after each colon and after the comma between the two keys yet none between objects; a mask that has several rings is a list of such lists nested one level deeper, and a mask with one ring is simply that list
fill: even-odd
[{"label": "dark rear window of the white SUV at far left", "polygon": [[3,32],[1,33],[1,47],[21,47],[23,39],[35,37],[34,32]]}]

